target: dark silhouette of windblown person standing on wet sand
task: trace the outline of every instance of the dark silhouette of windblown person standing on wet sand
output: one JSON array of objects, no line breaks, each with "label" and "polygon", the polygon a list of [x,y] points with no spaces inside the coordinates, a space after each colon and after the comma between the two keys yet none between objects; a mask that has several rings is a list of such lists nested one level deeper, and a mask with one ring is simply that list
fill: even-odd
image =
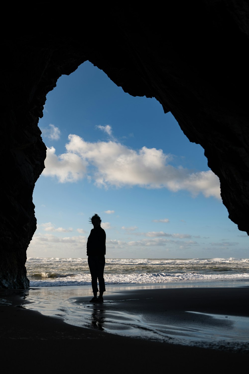
[{"label": "dark silhouette of windblown person standing on wet sand", "polygon": [[[90,235],[87,239],[88,266],[91,273],[91,285],[93,288],[93,298],[90,303],[103,303],[103,292],[105,292],[105,254],[106,254],[106,233],[100,226],[99,215],[94,214],[89,218],[93,224]],[[99,281],[99,290],[97,280]],[[97,292],[99,291],[99,297]]]}]

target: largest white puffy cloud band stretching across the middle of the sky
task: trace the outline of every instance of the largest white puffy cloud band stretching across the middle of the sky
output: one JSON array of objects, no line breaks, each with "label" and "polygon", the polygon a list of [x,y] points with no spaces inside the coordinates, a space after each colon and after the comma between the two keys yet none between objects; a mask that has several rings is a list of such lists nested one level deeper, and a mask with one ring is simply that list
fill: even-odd
[{"label": "largest white puffy cloud band stretching across the middle of the sky", "polygon": [[60,156],[56,156],[54,147],[48,148],[43,175],[74,182],[82,179],[88,169],[98,187],[167,188],[174,192],[187,190],[193,197],[202,193],[221,198],[220,181],[211,170],[175,168],[169,165],[171,155],[161,149],[142,147],[136,151],[113,140],[86,142],[72,134],[68,139],[66,153]]}]

